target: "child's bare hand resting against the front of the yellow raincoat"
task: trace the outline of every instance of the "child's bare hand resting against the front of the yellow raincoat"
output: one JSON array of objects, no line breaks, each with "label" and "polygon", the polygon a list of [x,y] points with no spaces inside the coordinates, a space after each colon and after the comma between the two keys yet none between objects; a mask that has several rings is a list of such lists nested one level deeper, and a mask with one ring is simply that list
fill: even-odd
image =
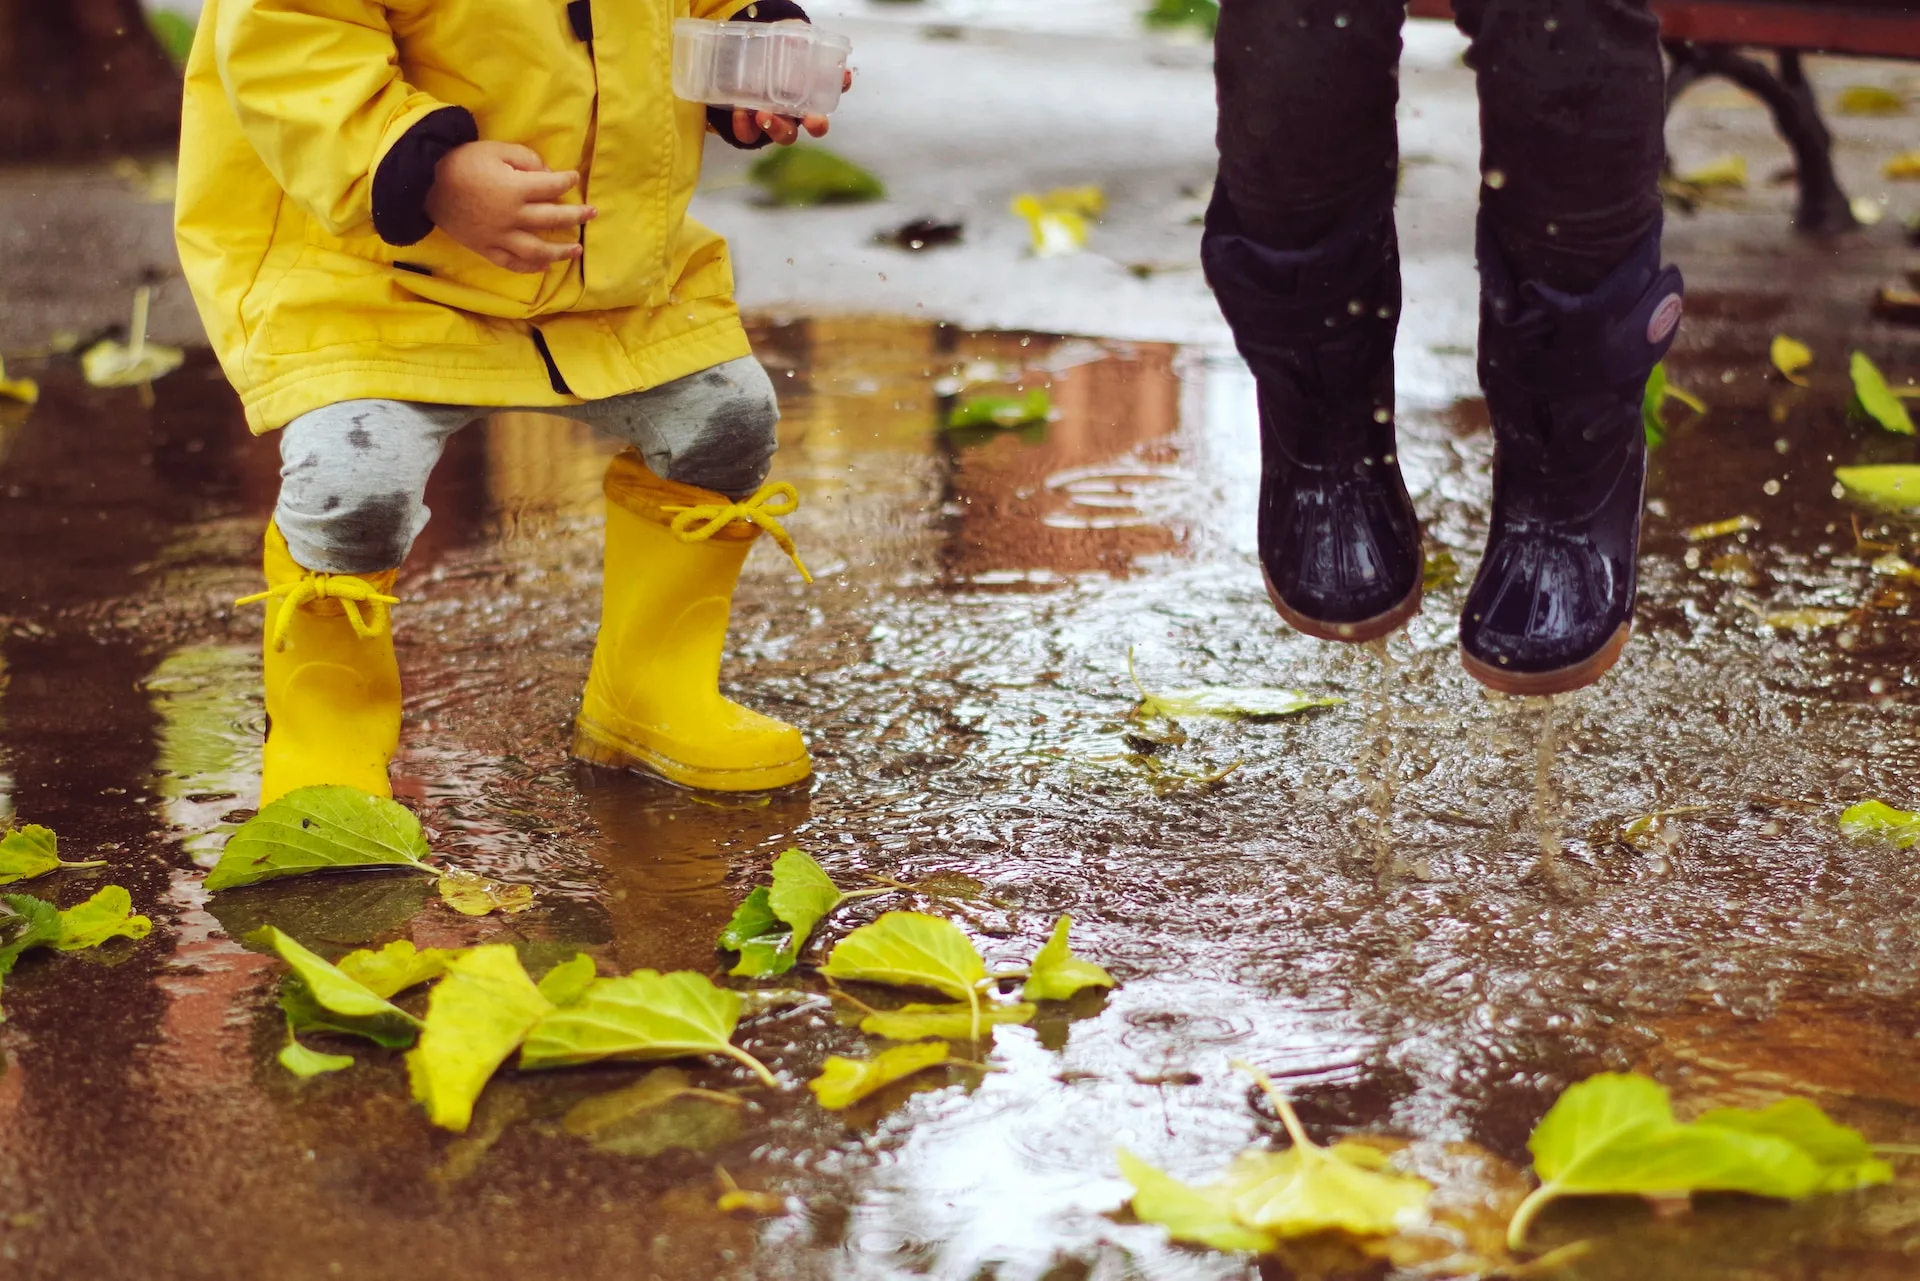
[{"label": "child's bare hand resting against the front of the yellow raincoat", "polygon": [[538,273],[580,257],[572,232],[599,215],[593,205],[555,204],[580,184],[572,169],[555,173],[530,148],[513,142],[468,142],[447,152],[426,192],[426,217],[495,267]]}]

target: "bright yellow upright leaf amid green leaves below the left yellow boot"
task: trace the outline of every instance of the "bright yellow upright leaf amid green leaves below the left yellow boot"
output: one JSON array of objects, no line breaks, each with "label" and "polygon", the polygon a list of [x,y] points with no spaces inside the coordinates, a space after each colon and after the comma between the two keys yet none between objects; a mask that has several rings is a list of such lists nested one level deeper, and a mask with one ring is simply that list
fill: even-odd
[{"label": "bright yellow upright leaf amid green leaves below the left yellow boot", "polygon": [[413,1097],[428,1120],[465,1131],[493,1072],[551,1012],[507,943],[474,947],[449,962],[426,1001],[420,1043],[407,1051]]}]

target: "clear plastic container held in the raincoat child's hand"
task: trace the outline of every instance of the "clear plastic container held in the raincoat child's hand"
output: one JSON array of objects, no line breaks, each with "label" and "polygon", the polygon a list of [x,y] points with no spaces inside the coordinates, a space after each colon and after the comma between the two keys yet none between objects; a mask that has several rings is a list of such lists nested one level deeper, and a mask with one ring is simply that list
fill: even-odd
[{"label": "clear plastic container held in the raincoat child's hand", "polygon": [[716,108],[826,115],[852,40],[808,23],[674,21],[674,94]]}]

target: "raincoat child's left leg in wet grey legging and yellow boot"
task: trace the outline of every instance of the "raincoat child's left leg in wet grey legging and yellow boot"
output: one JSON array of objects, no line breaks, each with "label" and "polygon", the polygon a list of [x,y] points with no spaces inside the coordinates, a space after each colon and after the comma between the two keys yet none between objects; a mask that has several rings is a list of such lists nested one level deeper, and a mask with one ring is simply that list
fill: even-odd
[{"label": "raincoat child's left leg in wet grey legging and yellow boot", "polygon": [[280,499],[267,526],[267,747],[261,805],[346,784],[392,795],[399,745],[394,576],[426,526],[426,476],[474,417],[451,405],[361,399],[280,434]]}]

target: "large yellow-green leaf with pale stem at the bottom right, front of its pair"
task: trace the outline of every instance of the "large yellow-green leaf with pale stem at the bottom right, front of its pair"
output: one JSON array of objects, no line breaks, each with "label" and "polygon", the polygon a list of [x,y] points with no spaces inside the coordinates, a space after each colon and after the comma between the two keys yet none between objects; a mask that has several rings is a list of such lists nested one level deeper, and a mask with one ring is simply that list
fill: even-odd
[{"label": "large yellow-green leaf with pale stem at the bottom right, front of its pair", "polygon": [[1828,1177],[1809,1152],[1774,1133],[1682,1125],[1663,1085],[1613,1072],[1571,1085],[1526,1147],[1540,1187],[1507,1225],[1515,1250],[1540,1208],[1559,1196],[1807,1196]]}]

